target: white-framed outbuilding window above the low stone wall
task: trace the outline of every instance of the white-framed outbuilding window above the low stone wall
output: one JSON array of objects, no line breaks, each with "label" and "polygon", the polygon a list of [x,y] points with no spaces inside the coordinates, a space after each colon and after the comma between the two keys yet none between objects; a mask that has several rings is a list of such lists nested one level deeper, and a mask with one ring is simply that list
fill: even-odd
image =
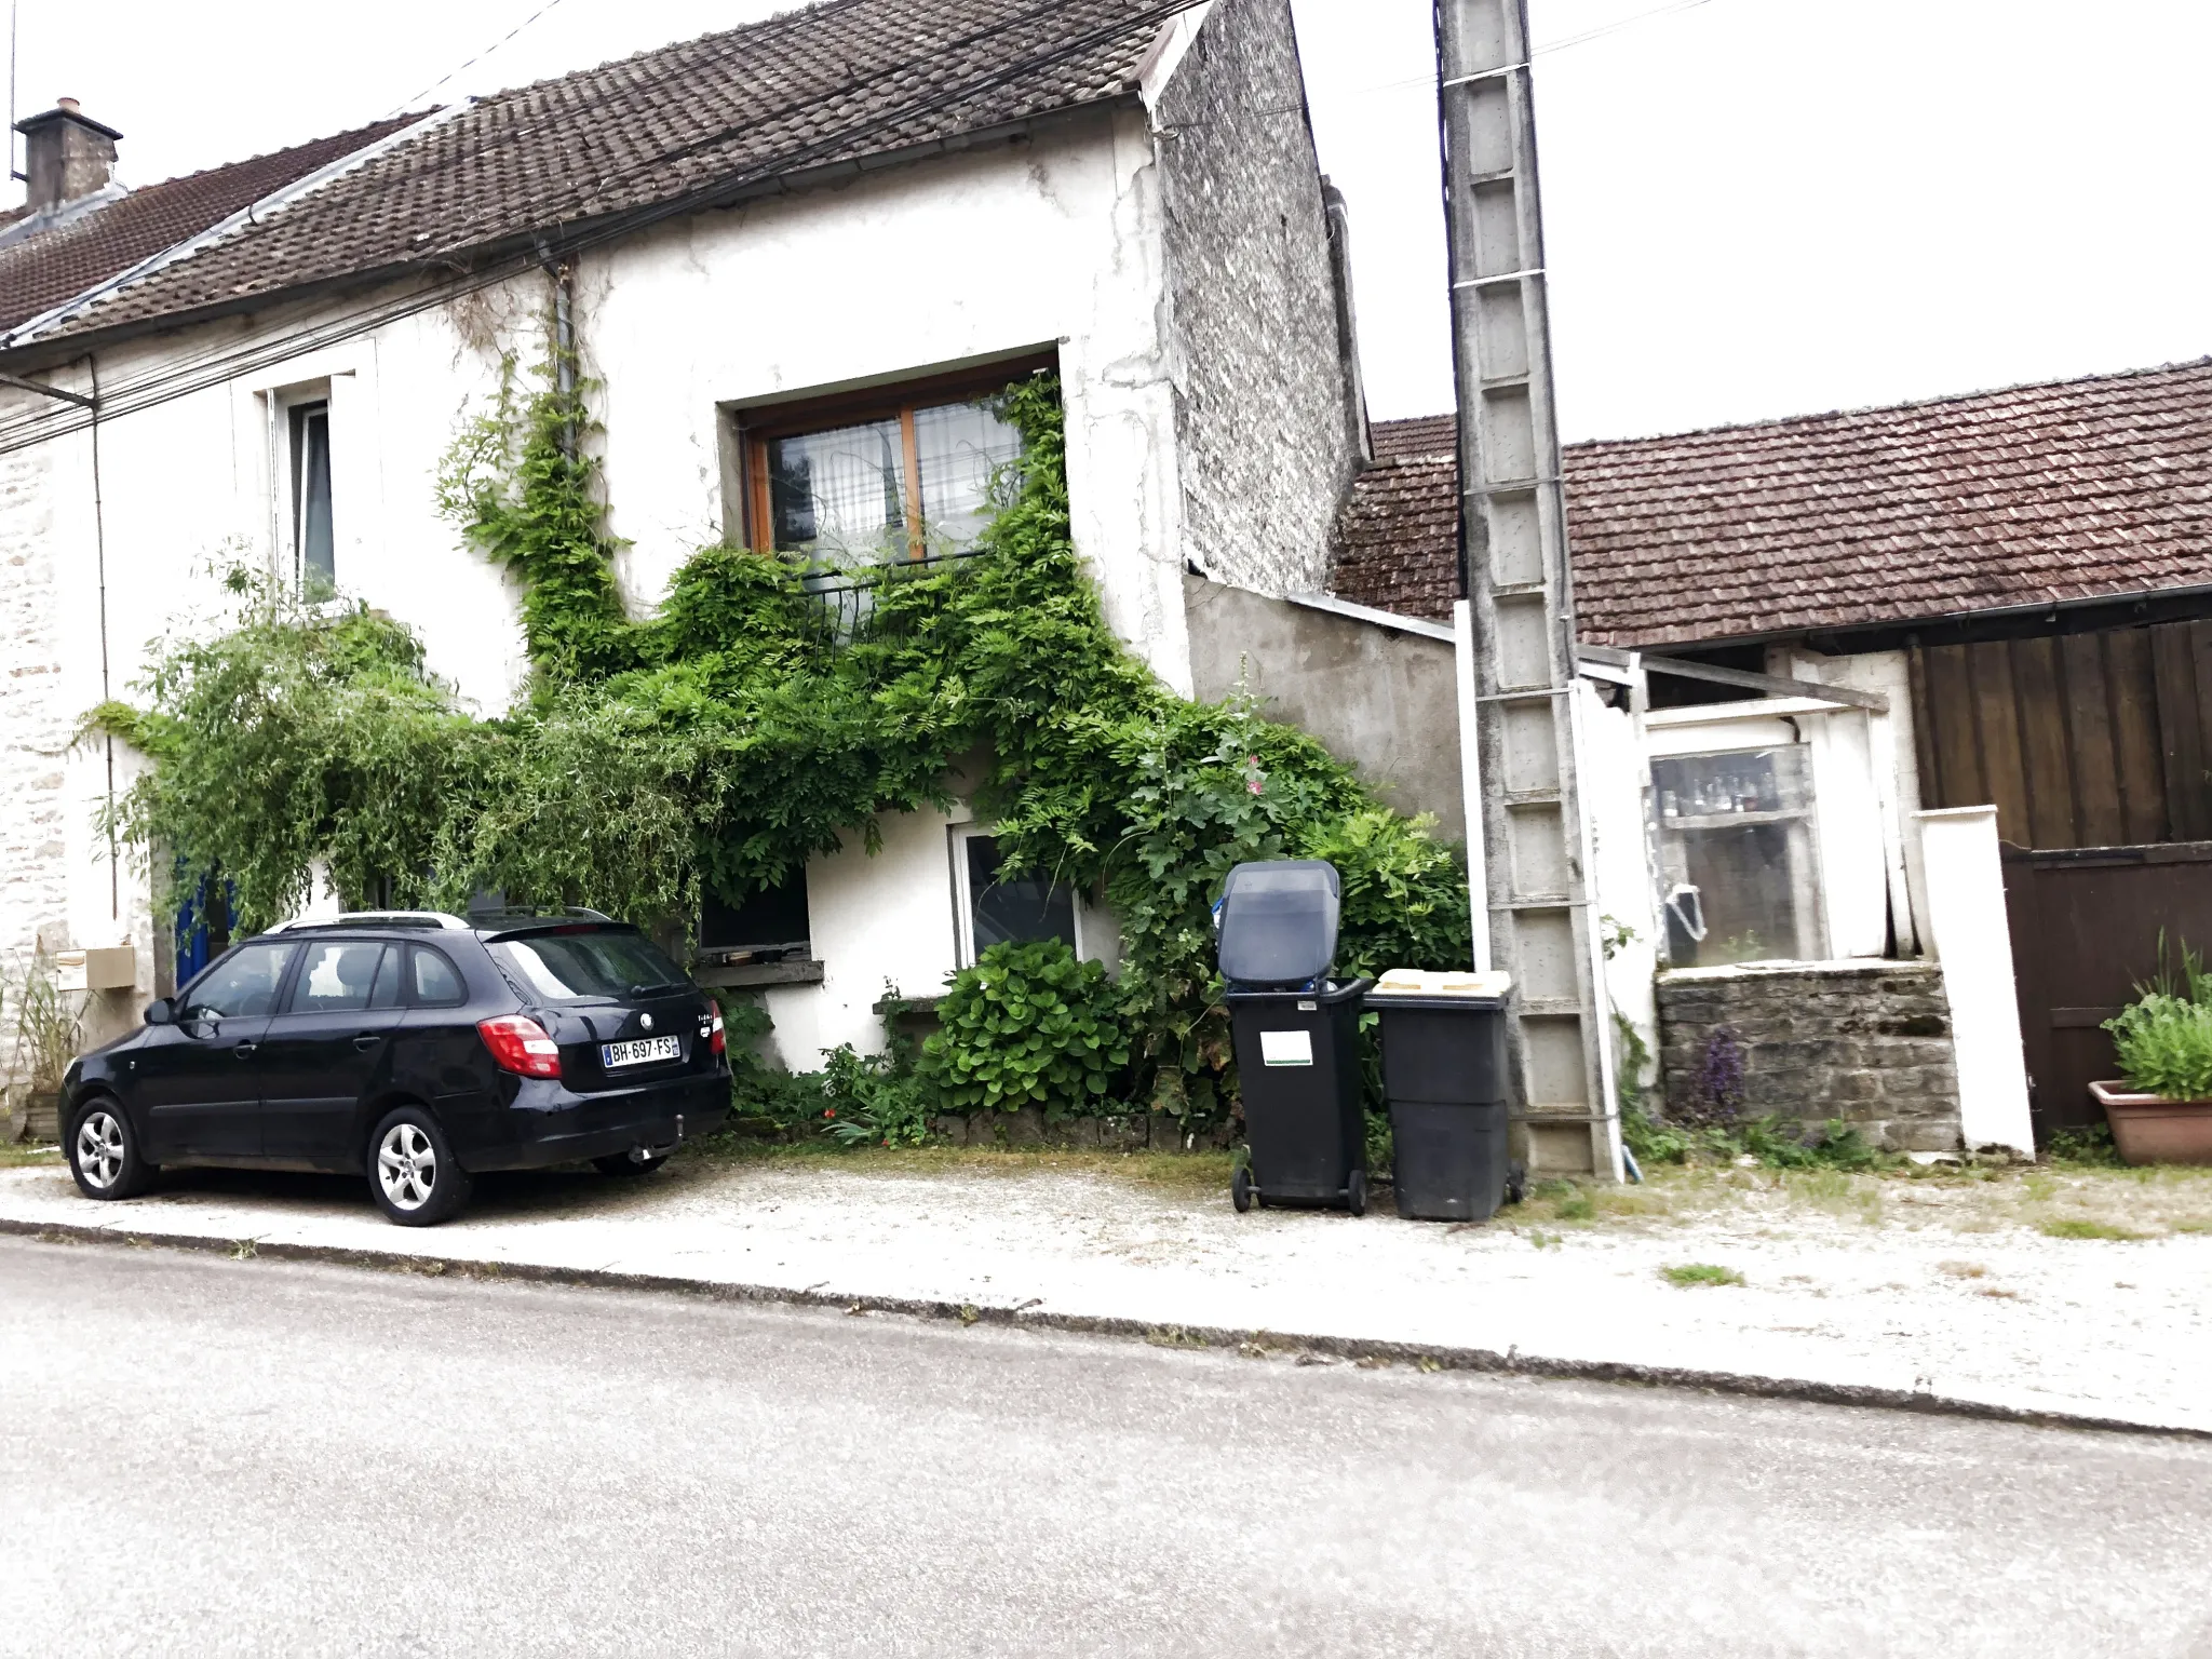
[{"label": "white-framed outbuilding window above the low stone wall", "polygon": [[1652,761],[1652,854],[1672,967],[1825,953],[1812,807],[1801,745]]}]

